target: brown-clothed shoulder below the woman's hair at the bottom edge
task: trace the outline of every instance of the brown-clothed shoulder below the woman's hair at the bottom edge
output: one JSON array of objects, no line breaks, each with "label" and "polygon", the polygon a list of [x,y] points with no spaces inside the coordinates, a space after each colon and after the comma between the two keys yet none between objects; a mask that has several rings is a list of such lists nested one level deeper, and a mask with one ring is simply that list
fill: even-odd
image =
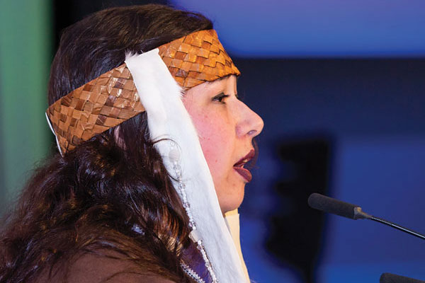
[{"label": "brown-clothed shoulder below the woman's hair at the bottom edge", "polygon": [[108,251],[107,256],[83,253],[66,267],[57,267],[43,272],[36,283],[174,283],[154,272],[146,272],[130,260],[121,259],[116,253]]}]

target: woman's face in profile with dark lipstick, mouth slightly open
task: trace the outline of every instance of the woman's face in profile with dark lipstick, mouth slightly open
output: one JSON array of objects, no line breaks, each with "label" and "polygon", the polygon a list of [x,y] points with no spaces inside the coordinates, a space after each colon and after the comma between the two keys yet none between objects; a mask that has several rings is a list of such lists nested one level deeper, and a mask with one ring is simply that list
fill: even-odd
[{"label": "woman's face in profile with dark lipstick, mouth slightly open", "polygon": [[237,209],[251,180],[243,166],[254,156],[252,139],[263,120],[237,98],[236,76],[190,88],[183,104],[198,131],[222,213]]}]

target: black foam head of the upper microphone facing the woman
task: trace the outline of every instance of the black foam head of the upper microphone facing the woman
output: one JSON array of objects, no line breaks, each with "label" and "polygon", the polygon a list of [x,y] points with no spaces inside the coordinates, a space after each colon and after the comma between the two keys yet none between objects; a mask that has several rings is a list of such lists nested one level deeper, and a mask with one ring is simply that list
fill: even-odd
[{"label": "black foam head of the upper microphone facing the woman", "polygon": [[348,202],[341,202],[331,197],[320,195],[316,192],[308,197],[308,205],[314,209],[319,209],[322,212],[328,212],[339,216],[344,216],[349,219],[357,219],[355,209],[358,207],[356,204],[349,204]]}]

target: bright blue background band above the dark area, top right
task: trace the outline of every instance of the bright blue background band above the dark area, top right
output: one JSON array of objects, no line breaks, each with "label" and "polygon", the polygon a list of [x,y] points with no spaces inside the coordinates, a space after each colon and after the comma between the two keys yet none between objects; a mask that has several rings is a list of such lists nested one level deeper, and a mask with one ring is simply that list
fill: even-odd
[{"label": "bright blue background band above the dark area, top right", "polygon": [[242,57],[424,56],[422,0],[170,1],[215,22]]}]

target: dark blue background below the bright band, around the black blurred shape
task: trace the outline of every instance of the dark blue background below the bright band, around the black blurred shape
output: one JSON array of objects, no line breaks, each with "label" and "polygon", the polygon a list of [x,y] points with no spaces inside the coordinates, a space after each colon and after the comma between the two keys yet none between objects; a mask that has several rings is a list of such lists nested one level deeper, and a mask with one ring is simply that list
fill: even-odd
[{"label": "dark blue background below the bright band, around the black blurred shape", "polygon": [[[241,209],[254,279],[302,282],[264,248],[268,215],[291,205],[276,204],[276,179],[292,174],[288,167],[278,175],[285,165],[276,141],[330,137],[331,197],[425,233],[424,60],[239,61],[239,92],[265,121],[259,168]],[[317,282],[379,282],[382,272],[425,279],[423,241],[372,221],[327,216],[321,247]]]}]

